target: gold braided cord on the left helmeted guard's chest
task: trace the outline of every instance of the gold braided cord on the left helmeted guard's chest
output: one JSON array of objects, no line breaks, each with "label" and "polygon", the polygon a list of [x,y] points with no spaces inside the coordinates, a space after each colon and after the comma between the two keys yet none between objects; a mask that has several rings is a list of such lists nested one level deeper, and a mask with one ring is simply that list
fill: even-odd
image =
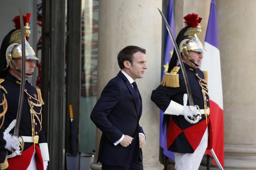
[{"label": "gold braided cord on the left helmeted guard's chest", "polygon": [[[24,90],[24,92],[27,94],[27,97],[28,97],[28,103],[29,103],[29,106],[30,106],[30,114],[31,114],[31,125],[32,125],[32,139],[33,139],[33,142],[34,142],[34,150],[35,150],[35,143],[38,143],[38,140],[39,140],[39,136],[37,135],[37,132],[35,133],[35,130],[34,130],[34,127],[35,125],[37,125],[35,123],[35,118],[37,118],[38,122],[39,122],[39,125],[40,125],[40,130],[42,129],[42,102],[38,99],[36,99],[35,97],[32,97],[30,94],[27,93],[26,90]],[[33,101],[31,101],[30,99],[34,99],[37,101],[37,103],[34,103]],[[34,106],[35,107],[40,107],[40,112],[37,113],[35,110],[34,110]],[[40,115],[41,116],[41,121],[39,119],[39,117],[37,115]]]}]

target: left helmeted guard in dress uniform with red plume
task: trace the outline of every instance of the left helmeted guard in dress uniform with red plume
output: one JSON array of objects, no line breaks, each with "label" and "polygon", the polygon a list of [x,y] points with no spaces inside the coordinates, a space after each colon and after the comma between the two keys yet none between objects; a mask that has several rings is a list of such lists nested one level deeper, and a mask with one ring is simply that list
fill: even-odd
[{"label": "left helmeted guard in dress uniform with red plume", "polygon": [[[27,42],[30,14],[23,16],[25,32],[25,78],[32,77],[34,72],[35,56],[33,48]],[[14,140],[11,136],[14,132],[15,119],[17,117],[19,93],[21,86],[21,29],[19,16],[13,19],[16,29],[11,30],[3,39],[0,49],[0,78],[4,79],[1,83],[8,92],[5,94],[8,102],[8,109],[5,114],[5,148],[8,150],[9,170],[12,169],[38,169],[45,170],[49,161],[48,145],[42,130],[42,104],[40,89],[32,86],[25,80],[23,105],[18,135],[22,137],[24,145]],[[19,27],[18,27],[19,26]],[[17,140],[17,139],[16,139]],[[21,142],[22,143],[22,142]],[[12,151],[13,150],[13,151]]]}]

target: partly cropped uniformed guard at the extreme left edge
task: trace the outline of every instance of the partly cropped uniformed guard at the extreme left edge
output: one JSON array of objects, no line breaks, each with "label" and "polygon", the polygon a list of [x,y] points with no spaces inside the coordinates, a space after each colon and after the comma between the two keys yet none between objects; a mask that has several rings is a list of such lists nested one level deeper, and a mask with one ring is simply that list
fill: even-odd
[{"label": "partly cropped uniformed guard at the extreme left edge", "polygon": [[6,142],[3,139],[3,131],[5,130],[5,126],[3,125],[3,121],[5,119],[5,113],[7,111],[7,100],[5,95],[7,91],[1,83],[3,79],[0,79],[0,169],[7,169],[8,162],[7,162],[7,151],[5,150]]}]

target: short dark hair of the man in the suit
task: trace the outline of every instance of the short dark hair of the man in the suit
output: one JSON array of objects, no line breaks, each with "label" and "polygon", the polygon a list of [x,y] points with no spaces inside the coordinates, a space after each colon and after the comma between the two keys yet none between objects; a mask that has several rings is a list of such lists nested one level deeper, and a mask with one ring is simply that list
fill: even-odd
[{"label": "short dark hair of the man in the suit", "polygon": [[138,51],[146,54],[146,50],[140,48],[138,46],[129,45],[122,49],[117,55],[117,61],[120,69],[123,69],[125,66],[123,65],[124,61],[129,61],[131,65],[133,65],[133,54],[137,53]]}]

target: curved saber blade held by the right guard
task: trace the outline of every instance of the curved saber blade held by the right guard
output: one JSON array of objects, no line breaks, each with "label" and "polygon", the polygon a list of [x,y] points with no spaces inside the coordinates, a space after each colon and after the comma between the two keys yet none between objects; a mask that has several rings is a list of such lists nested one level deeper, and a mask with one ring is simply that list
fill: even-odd
[{"label": "curved saber blade held by the right guard", "polygon": [[[159,8],[157,8],[157,9],[159,10]],[[185,71],[182,59],[181,59],[181,53],[179,52],[179,48],[178,48],[178,46],[176,44],[175,38],[173,36],[173,33],[171,32],[171,28],[170,28],[167,20],[165,19],[165,16],[163,15],[163,12],[161,10],[159,10],[159,12],[162,15],[163,20],[165,21],[165,25],[167,27],[167,31],[169,32],[169,35],[171,36],[171,41],[173,41],[173,45],[174,45],[175,51],[177,53],[177,56],[178,56],[178,59],[179,59],[179,63],[181,65],[181,71],[182,71],[183,77],[185,79],[185,84],[186,84],[186,88],[187,88],[187,95],[188,95],[188,99],[189,99],[189,105],[193,106],[194,103],[193,103],[193,99],[192,99],[192,95],[191,95],[191,90],[190,90],[190,86],[189,86],[189,80],[187,79],[187,74],[186,74],[186,71]]]}]

